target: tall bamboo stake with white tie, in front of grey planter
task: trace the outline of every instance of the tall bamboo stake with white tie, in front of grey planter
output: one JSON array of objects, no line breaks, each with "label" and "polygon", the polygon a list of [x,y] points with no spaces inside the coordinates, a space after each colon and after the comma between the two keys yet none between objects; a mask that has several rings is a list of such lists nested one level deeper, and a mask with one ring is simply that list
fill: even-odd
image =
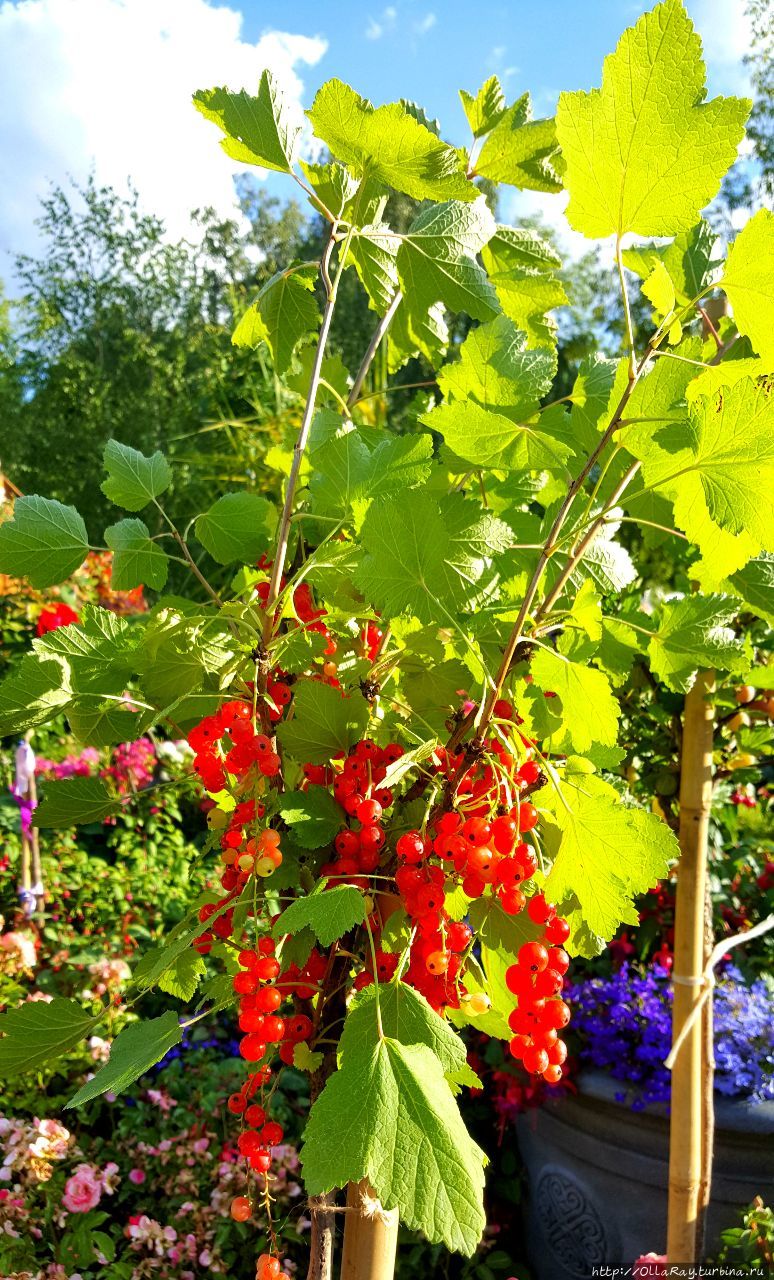
[{"label": "tall bamboo stake with white tie, in front of grey planter", "polygon": [[[681,751],[679,845],[674,911],[673,1042],[701,1000],[705,979],[707,831],[713,799],[714,672],[700,671],[686,696]],[[705,997],[706,998],[706,997]],[[699,1262],[701,1201],[709,1194],[705,1128],[706,1070],[702,1019],[684,1037],[672,1070],[669,1125],[669,1265]],[[711,1068],[709,1068],[711,1071]],[[702,1172],[706,1178],[702,1196]]]}]

